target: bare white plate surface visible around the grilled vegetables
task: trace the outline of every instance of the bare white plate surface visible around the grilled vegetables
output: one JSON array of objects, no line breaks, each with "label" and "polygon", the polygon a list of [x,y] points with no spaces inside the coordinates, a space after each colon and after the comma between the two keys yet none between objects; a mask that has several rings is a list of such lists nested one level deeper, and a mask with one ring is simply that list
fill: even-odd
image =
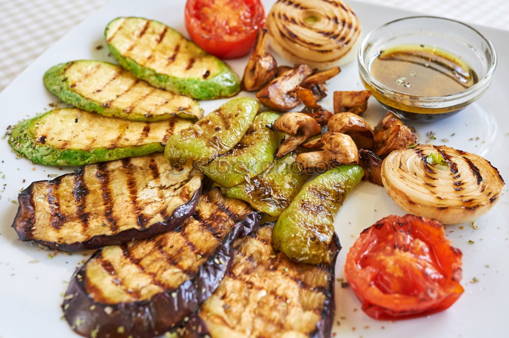
[{"label": "bare white plate surface visible around the grilled vegetables", "polygon": [[[263,1],[266,12],[273,1]],[[360,18],[365,33],[396,18],[415,15],[350,1]],[[53,65],[74,59],[112,59],[103,40],[105,25],[117,16],[142,16],[160,20],[185,34],[183,1],[116,0],[108,3],[86,21],[73,28],[60,41],[42,54],[29,68],[18,76],[1,94],[0,107],[2,124],[14,125],[18,120],[32,117],[50,109],[49,103],[56,99],[49,94],[42,83],[44,72]],[[486,157],[509,179],[509,32],[479,27],[498,52],[499,65],[493,84],[485,96],[463,112],[443,121],[426,125],[415,125],[421,141],[426,141],[429,131],[436,133],[435,144],[447,144]],[[101,45],[102,49],[96,47]],[[285,64],[284,60],[279,60]],[[235,60],[230,65],[242,74],[246,59]],[[362,89],[357,74],[357,65],[352,63],[343,68],[340,75],[330,81],[329,92],[333,90]],[[243,95],[243,94],[241,94]],[[251,95],[249,95],[251,96]],[[211,111],[225,100],[203,102],[205,111]],[[332,96],[322,104],[332,109]],[[382,116],[383,109],[375,101],[370,102],[365,116],[372,124]],[[451,134],[455,133],[455,136]],[[476,137],[479,137],[476,140]],[[442,138],[449,141],[441,141]],[[470,138],[473,140],[469,141]],[[0,142],[0,337],[1,338],[54,338],[77,337],[67,323],[61,320],[63,293],[72,272],[84,255],[72,256],[59,253],[53,259],[48,251],[41,250],[17,240],[10,227],[16,214],[17,194],[30,182],[47,179],[51,174],[63,174],[69,169],[33,165],[26,159],[16,159],[7,141]],[[5,176],[3,176],[5,175]],[[23,181],[25,180],[25,181]],[[5,189],[5,190],[4,190]],[[336,283],[336,319],[332,332],[339,337],[480,337],[507,336],[509,321],[509,212],[507,211],[507,188],[498,204],[477,221],[474,230],[469,224],[447,226],[448,238],[463,251],[464,294],[450,309],[429,317],[398,322],[376,321],[362,313],[360,304],[348,288],[342,289]],[[344,277],[345,256],[360,231],[389,214],[403,215],[404,212],[386,195],[383,188],[362,182],[341,208],[336,217],[336,231],[340,236],[343,250],[337,260],[336,277]],[[474,244],[468,241],[473,240]],[[89,253],[90,254],[90,253]],[[88,255],[87,255],[88,256]],[[489,267],[487,267],[487,264]],[[473,278],[477,283],[470,283]],[[341,323],[341,324],[340,324]],[[225,337],[227,338],[227,337]]]}]

